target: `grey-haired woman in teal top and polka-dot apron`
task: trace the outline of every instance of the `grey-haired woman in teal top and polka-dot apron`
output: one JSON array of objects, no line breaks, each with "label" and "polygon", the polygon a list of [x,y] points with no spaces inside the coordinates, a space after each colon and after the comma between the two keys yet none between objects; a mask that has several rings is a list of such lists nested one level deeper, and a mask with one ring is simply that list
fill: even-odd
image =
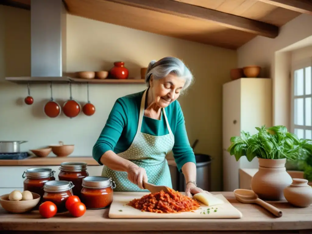
[{"label": "grey-haired woman in teal top and polka-dot apron", "polygon": [[149,63],[146,90],[116,100],[93,147],[93,158],[104,165],[102,176],[115,181],[115,191],[147,191],[143,181],[172,188],[165,158],[172,150],[186,194],[204,192],[195,182],[195,155],[177,100],[192,80],[181,60],[165,57]]}]

